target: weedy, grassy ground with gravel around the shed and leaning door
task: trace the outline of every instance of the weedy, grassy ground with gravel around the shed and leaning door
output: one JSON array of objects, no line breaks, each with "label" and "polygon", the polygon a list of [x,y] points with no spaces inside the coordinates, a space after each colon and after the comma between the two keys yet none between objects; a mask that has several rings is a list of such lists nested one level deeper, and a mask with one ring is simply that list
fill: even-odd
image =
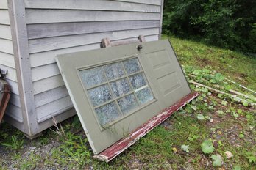
[{"label": "weedy, grassy ground with gravel around the shed and leaning door", "polygon": [[[250,104],[255,95],[227,81],[256,90],[256,59],[199,42],[171,42],[191,89],[200,93],[185,108],[110,163],[92,158],[77,117],[33,141],[2,124],[0,169],[256,169],[256,108]],[[234,97],[230,89],[249,97]]]}]

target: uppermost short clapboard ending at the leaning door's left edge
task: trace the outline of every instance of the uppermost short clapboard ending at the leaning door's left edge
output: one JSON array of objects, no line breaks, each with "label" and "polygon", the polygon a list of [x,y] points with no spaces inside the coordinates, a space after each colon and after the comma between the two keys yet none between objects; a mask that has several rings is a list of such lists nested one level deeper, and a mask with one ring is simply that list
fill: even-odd
[{"label": "uppermost short clapboard ending at the leaning door's left edge", "polygon": [[47,64],[42,67],[34,67],[31,70],[32,72],[32,81],[39,81],[43,78],[49,78],[54,75],[59,75],[60,70],[57,67],[57,64]]}]

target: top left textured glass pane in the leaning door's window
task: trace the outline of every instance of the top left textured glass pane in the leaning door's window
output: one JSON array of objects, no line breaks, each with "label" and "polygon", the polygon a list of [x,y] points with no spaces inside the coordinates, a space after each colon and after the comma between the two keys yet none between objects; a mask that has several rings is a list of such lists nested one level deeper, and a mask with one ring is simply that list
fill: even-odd
[{"label": "top left textured glass pane in the leaning door's window", "polygon": [[103,82],[107,81],[104,77],[102,67],[95,67],[88,70],[80,70],[79,75],[82,79],[82,83],[85,84],[87,88],[90,88],[91,86],[96,86],[97,84],[102,84]]}]

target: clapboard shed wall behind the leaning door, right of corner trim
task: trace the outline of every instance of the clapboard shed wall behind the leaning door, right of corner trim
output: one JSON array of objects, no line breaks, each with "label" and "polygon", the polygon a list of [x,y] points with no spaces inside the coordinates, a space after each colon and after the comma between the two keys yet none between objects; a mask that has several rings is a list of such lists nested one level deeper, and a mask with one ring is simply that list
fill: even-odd
[{"label": "clapboard shed wall behind the leaning door, right of corner trim", "polygon": [[100,48],[104,37],[160,35],[161,0],[24,0],[38,123],[72,108],[57,68],[62,53]]}]

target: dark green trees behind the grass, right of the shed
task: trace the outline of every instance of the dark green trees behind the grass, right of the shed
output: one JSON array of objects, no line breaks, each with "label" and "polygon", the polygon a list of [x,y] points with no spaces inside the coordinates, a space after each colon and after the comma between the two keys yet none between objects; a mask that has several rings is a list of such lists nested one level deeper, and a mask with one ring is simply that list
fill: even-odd
[{"label": "dark green trees behind the grass, right of the shed", "polygon": [[163,31],[256,53],[256,1],[166,0]]}]

